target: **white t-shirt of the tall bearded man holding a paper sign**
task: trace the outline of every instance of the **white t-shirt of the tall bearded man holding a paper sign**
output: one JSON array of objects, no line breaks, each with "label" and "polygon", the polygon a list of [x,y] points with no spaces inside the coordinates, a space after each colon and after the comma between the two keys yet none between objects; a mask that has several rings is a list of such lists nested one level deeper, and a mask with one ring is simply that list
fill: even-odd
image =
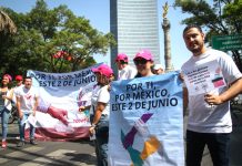
[{"label": "white t-shirt of the tall bearded man holding a paper sign", "polygon": [[[206,50],[199,56],[190,58],[181,68],[183,73],[192,72],[196,65],[216,61],[222,70],[226,85],[242,77],[241,72],[235,63],[222,51]],[[189,90],[189,86],[186,86]],[[213,94],[221,94],[228,86],[214,89]],[[205,92],[204,92],[205,93]],[[230,115],[230,103],[225,102],[221,105],[208,106],[204,101],[204,93],[198,95],[189,95],[189,122],[188,129],[200,133],[231,133],[232,122]]]}]

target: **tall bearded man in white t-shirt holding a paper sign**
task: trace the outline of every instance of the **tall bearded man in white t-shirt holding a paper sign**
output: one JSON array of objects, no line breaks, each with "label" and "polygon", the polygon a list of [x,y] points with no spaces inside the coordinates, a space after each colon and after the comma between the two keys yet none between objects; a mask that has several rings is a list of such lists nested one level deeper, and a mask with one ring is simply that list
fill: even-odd
[{"label": "tall bearded man in white t-shirt holding a paper sign", "polygon": [[[208,49],[204,45],[204,33],[198,25],[188,25],[183,31],[183,39],[186,48],[192,52],[192,56],[182,65],[184,74],[184,107],[189,106],[189,121],[186,129],[186,165],[200,166],[204,146],[206,145],[213,165],[229,166],[230,133],[232,122],[230,115],[229,101],[236,96],[242,90],[242,74],[233,60],[224,52]],[[220,81],[214,84],[214,89],[206,92],[210,82],[205,82],[204,93],[195,94],[199,86],[191,86],[191,81],[195,81],[196,75],[202,79],[199,66],[216,65],[215,71],[206,71],[203,74],[221,73]],[[190,76],[190,77],[189,77]],[[209,75],[211,76],[211,75]],[[189,79],[190,80],[189,80]],[[203,77],[204,79],[204,77]],[[224,82],[223,82],[224,80]],[[198,84],[201,83],[196,82]],[[200,89],[201,90],[201,89]]]}]

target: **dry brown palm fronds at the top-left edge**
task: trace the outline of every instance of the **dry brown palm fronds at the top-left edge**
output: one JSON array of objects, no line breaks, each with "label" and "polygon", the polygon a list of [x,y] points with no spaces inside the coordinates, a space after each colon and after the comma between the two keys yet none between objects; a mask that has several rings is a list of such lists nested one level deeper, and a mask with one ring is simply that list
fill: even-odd
[{"label": "dry brown palm fronds at the top-left edge", "polygon": [[17,32],[17,27],[12,19],[2,10],[0,10],[0,32],[8,31],[13,34]]}]

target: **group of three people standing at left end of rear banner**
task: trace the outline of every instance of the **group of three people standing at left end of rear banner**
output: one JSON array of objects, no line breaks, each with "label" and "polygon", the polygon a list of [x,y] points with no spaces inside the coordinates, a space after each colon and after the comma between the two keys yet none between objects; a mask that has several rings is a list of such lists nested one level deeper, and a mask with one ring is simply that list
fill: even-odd
[{"label": "group of three people standing at left end of rear banner", "polygon": [[[9,74],[4,74],[2,76],[1,89],[0,89],[0,116],[1,116],[1,125],[2,125],[2,144],[1,147],[7,147],[7,134],[8,134],[8,121],[11,114],[12,106],[16,106],[19,115],[19,134],[20,142],[18,143],[18,147],[22,147],[24,145],[24,128],[27,118],[30,115],[36,115],[37,106],[38,106],[38,93],[32,87],[32,79],[24,77],[24,84],[22,84],[22,76],[17,75],[16,82],[17,85],[11,89],[10,83],[12,81],[12,76]],[[30,144],[37,145],[34,141],[34,126],[30,124]]]}]

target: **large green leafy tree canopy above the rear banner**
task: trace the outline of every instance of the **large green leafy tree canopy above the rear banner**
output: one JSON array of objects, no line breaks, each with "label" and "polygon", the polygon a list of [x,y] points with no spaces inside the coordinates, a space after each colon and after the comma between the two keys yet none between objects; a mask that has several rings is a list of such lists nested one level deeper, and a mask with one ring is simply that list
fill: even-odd
[{"label": "large green leafy tree canopy above the rear banner", "polygon": [[24,74],[27,70],[70,72],[94,64],[92,55],[105,54],[114,44],[112,34],[92,28],[89,20],[77,17],[67,6],[48,9],[43,0],[28,13],[4,11],[18,32],[1,35],[0,72]]}]

